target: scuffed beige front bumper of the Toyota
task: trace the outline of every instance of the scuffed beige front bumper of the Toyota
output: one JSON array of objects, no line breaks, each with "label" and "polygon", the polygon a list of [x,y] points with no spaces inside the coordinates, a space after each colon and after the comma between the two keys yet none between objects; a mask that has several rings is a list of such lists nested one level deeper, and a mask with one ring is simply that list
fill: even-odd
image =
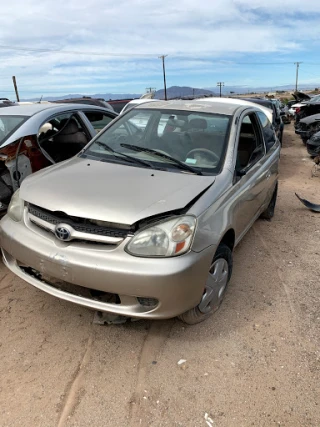
[{"label": "scuffed beige front bumper of the Toyota", "polygon": [[15,222],[0,222],[5,265],[50,295],[94,310],[166,319],[201,300],[215,247],[173,258],[139,258],[119,246],[61,242]]}]

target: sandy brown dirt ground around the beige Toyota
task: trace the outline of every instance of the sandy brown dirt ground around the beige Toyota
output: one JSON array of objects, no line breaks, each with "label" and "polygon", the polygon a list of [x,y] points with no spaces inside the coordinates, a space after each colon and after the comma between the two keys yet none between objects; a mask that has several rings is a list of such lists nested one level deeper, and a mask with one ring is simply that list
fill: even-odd
[{"label": "sandy brown dirt ground around the beige Toyota", "polygon": [[1,264],[0,426],[319,427],[320,214],[294,194],[320,203],[311,167],[286,125],[276,215],[196,326],[99,326]]}]

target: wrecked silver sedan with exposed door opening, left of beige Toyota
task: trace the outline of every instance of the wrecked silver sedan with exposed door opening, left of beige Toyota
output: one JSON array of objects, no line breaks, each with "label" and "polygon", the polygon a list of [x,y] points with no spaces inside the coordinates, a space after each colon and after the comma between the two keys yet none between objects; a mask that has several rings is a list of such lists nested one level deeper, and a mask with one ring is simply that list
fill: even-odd
[{"label": "wrecked silver sedan with exposed door opening, left of beige Toyota", "polygon": [[91,105],[30,104],[0,110],[0,213],[31,173],[74,156],[117,117]]}]

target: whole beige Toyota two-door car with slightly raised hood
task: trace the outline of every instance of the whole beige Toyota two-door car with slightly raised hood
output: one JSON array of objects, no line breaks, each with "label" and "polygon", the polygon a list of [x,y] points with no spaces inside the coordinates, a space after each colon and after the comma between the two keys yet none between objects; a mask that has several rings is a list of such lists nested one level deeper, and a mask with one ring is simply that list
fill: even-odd
[{"label": "whole beige Toyota two-door car with slightly raised hood", "polygon": [[[0,223],[6,266],[101,312],[205,320],[235,246],[274,214],[280,143],[263,111],[158,101],[120,115],[80,154],[22,182]],[[146,125],[133,132],[139,115]]]}]

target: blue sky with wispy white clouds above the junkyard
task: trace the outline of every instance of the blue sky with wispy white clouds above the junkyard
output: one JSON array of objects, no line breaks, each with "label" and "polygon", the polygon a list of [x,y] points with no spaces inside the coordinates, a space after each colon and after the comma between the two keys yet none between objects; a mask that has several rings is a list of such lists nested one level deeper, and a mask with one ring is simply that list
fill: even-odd
[{"label": "blue sky with wispy white clouds above the junkyard", "polygon": [[11,0],[0,14],[0,97],[167,86],[320,85],[319,0]]}]

